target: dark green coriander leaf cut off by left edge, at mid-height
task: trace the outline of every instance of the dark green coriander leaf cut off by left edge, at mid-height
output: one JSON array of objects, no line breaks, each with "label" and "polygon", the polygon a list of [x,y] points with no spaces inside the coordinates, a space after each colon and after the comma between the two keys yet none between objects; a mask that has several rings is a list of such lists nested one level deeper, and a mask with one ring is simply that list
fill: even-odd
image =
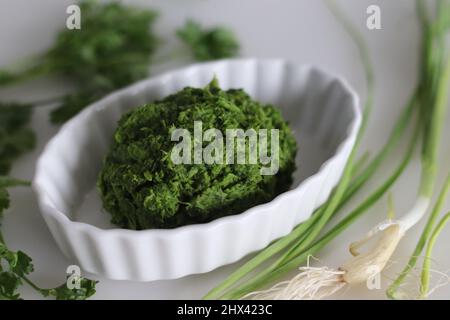
[{"label": "dark green coriander leaf cut off by left edge, at mid-height", "polygon": [[0,174],[7,174],[12,163],[36,144],[34,132],[28,127],[30,105],[0,103]]}]

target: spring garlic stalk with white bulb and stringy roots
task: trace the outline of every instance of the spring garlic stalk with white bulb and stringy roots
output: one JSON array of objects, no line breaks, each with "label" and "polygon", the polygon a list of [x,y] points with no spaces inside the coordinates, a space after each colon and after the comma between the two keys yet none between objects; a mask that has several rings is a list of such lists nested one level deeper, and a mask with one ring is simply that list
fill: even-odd
[{"label": "spring garlic stalk with white bulb and stringy roots", "polygon": [[[421,182],[413,207],[399,219],[388,219],[380,223],[362,240],[351,244],[350,252],[354,257],[340,268],[301,268],[302,272],[291,281],[279,283],[265,291],[251,292],[245,295],[246,298],[324,298],[346,285],[367,282],[385,268],[405,233],[425,216],[434,191],[450,79],[450,59],[446,58],[444,45],[444,33],[448,29],[444,19],[450,15],[450,6],[444,6],[444,1],[438,0],[437,8],[437,18],[430,20],[430,16],[424,13],[425,3],[417,1],[424,30],[424,50],[421,82],[414,96],[417,97],[421,112],[419,130],[423,138]],[[378,237],[378,242],[367,252],[360,254],[358,249],[374,237]]]}]

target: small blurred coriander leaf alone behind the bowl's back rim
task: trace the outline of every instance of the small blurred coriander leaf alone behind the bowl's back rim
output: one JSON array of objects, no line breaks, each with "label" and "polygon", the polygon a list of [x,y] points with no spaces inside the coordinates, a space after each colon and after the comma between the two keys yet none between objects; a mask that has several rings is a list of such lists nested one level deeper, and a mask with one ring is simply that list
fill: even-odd
[{"label": "small blurred coriander leaf alone behind the bowl's back rim", "polygon": [[230,58],[239,52],[235,35],[224,27],[202,29],[199,23],[188,20],[184,27],[177,30],[177,35],[200,61]]}]

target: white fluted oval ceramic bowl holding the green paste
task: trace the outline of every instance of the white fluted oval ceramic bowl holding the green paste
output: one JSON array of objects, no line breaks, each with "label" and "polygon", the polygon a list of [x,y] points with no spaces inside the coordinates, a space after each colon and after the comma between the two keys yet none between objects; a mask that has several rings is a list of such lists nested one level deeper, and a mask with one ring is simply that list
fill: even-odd
[{"label": "white fluted oval ceramic bowl holding the green paste", "polygon": [[[273,201],[206,224],[132,231],[109,223],[95,190],[120,116],[185,86],[244,88],[279,106],[298,140],[292,189]],[[111,279],[150,281],[211,271],[288,234],[337,184],[355,143],[358,98],[341,79],[281,60],[226,60],[193,65],[136,83],[92,104],[65,124],[40,156],[33,187],[64,254]]]}]

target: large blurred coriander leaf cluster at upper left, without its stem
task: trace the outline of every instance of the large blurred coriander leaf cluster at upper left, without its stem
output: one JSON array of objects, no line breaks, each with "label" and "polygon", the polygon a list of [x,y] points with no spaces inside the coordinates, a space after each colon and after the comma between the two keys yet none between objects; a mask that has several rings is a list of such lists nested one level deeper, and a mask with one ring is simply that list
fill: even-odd
[{"label": "large blurred coriander leaf cluster at upper left, without its stem", "polygon": [[52,123],[63,123],[112,90],[147,76],[159,45],[152,30],[155,11],[97,1],[82,1],[80,9],[83,28],[61,31],[44,59],[78,86],[53,110]]}]

